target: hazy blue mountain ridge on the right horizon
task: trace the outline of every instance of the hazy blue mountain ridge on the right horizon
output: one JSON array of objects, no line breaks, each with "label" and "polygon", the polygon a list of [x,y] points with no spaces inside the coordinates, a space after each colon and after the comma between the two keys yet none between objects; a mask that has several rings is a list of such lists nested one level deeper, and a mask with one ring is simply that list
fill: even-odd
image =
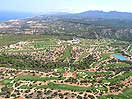
[{"label": "hazy blue mountain ridge on the right horizon", "polygon": [[132,13],[128,12],[117,12],[117,11],[110,11],[110,12],[104,12],[104,11],[86,11],[82,13],[75,14],[75,16],[78,17],[84,17],[84,18],[96,18],[96,19],[128,19],[132,20]]}]

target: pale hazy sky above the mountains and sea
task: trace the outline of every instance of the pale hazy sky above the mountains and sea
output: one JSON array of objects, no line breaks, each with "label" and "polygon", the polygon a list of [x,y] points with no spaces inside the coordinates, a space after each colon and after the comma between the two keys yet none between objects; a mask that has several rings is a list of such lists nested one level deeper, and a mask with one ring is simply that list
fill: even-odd
[{"label": "pale hazy sky above the mountains and sea", "polygon": [[1,0],[0,10],[19,12],[132,12],[132,0]]}]

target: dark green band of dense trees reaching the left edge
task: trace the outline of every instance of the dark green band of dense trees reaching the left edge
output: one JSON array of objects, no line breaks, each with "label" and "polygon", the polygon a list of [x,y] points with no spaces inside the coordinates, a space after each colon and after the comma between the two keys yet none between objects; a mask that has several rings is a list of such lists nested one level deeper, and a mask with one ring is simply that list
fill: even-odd
[{"label": "dark green band of dense trees reaching the left edge", "polygon": [[41,60],[35,60],[31,56],[20,56],[20,55],[0,55],[0,64],[6,67],[12,66],[12,68],[16,69],[32,69],[39,71],[51,71],[53,69],[68,66],[68,63],[60,63],[60,62],[49,62],[45,63]]}]

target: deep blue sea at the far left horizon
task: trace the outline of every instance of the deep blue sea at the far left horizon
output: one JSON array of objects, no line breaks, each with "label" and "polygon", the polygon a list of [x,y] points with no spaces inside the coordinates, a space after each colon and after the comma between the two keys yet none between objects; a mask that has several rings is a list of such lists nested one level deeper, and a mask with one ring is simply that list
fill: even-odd
[{"label": "deep blue sea at the far left horizon", "polygon": [[21,19],[35,16],[33,13],[13,12],[13,11],[0,11],[0,21],[7,21],[13,19]]}]

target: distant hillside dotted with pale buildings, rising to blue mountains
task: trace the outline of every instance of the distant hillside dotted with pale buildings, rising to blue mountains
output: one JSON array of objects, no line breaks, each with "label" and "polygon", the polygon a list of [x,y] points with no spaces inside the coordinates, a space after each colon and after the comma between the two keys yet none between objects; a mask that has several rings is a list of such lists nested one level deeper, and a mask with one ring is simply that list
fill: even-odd
[{"label": "distant hillside dotted with pale buildings, rising to blue mountains", "polygon": [[1,22],[0,33],[70,35],[92,39],[131,41],[132,16],[126,12],[87,11],[79,14],[54,13]]}]

